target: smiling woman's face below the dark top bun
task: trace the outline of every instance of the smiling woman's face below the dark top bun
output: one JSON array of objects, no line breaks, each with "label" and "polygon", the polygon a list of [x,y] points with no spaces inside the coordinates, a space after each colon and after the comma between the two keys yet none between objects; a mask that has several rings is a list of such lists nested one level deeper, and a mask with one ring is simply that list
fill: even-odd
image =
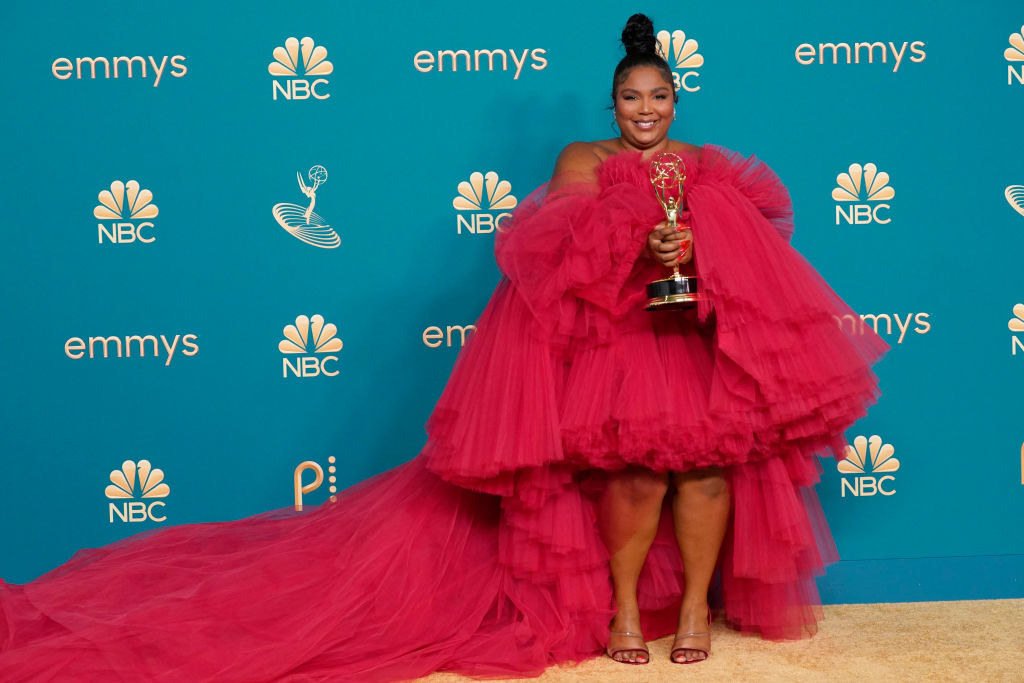
[{"label": "smiling woman's face below the dark top bun", "polygon": [[669,137],[676,111],[673,86],[653,67],[635,67],[615,93],[615,123],[623,144],[650,150]]}]

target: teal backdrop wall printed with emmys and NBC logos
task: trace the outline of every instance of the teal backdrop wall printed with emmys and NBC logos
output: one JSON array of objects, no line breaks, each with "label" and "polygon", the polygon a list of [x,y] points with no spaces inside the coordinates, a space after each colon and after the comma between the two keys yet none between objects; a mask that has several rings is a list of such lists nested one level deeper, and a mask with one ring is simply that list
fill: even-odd
[{"label": "teal backdrop wall printed with emmys and NBC logos", "polygon": [[[756,154],[879,332],[822,461],[827,601],[1020,595],[1024,8],[645,7],[676,138]],[[612,137],[622,3],[18,3],[4,41],[0,575],[315,505],[413,458],[495,230]]]}]

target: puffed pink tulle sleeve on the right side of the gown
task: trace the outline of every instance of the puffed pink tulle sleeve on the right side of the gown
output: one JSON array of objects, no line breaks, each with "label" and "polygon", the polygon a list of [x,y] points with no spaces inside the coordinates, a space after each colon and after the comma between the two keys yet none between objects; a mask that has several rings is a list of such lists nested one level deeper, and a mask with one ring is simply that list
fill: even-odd
[{"label": "puffed pink tulle sleeve on the right side of the gown", "polygon": [[841,326],[856,313],[788,245],[788,194],[765,164],[706,147],[688,202],[700,314],[715,316],[717,417],[753,424],[775,454],[841,449],[878,397],[870,366],[888,345]]}]

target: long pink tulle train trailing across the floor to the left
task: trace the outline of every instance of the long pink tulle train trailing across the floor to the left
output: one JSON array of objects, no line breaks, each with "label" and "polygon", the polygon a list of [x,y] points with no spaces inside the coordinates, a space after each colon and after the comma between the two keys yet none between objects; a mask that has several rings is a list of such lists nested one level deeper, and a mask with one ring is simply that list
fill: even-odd
[{"label": "long pink tulle train trailing across the floor to the left", "polygon": [[599,651],[606,559],[579,492],[545,520],[541,557],[517,549],[536,527],[514,504],[423,465],[306,512],[169,527],[0,582],[0,679],[531,676]]}]

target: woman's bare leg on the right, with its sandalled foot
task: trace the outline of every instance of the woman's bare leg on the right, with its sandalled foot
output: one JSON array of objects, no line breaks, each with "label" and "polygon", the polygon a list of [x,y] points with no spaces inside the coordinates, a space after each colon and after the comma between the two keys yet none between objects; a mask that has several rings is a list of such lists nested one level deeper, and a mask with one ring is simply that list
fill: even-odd
[{"label": "woman's bare leg on the right, with its sandalled foot", "polygon": [[[708,587],[729,523],[729,484],[718,467],[675,472],[672,483],[676,488],[673,501],[676,541],[683,554],[686,582],[676,633],[708,633]],[[674,647],[710,650],[711,636],[678,638]],[[697,650],[684,650],[676,655],[676,660],[702,658],[703,652]]]}]

